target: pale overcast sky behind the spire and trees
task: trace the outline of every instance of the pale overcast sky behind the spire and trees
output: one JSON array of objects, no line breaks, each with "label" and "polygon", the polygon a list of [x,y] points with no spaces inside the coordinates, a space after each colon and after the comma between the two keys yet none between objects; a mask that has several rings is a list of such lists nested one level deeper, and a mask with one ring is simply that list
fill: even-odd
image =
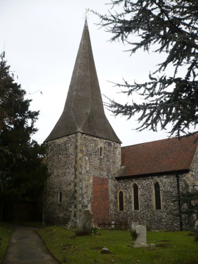
[{"label": "pale overcast sky behind the spire and trees", "polygon": [[[110,0],[0,0],[0,53],[18,76],[16,81],[32,99],[31,109],[40,110],[34,135],[42,143],[62,113],[85,21],[85,10],[105,14]],[[88,26],[101,93],[125,103],[119,88],[109,81],[133,83],[148,80],[149,71],[159,63],[155,53],[130,56],[129,47],[110,43],[110,33],[96,24],[99,18],[88,14]],[[42,94],[40,93],[42,92]],[[106,99],[103,97],[103,101]],[[106,116],[122,146],[166,138],[165,132],[136,132],[136,118]]]}]

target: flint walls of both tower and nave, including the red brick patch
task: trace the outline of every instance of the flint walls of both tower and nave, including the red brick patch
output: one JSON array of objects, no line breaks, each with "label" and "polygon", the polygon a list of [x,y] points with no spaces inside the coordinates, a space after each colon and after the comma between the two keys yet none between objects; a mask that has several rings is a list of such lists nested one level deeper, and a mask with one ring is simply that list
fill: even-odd
[{"label": "flint walls of both tower and nave, including the red brick patch", "polygon": [[[99,155],[102,148],[102,157]],[[48,142],[47,164],[50,177],[44,191],[44,222],[65,225],[76,214],[89,209],[95,221],[145,221],[150,229],[180,230],[176,174],[116,180],[121,168],[120,144],[82,133]],[[179,174],[180,192],[185,191],[186,179],[198,182],[198,153],[190,172]],[[154,209],[155,182],[161,189],[161,210]],[[139,188],[139,210],[132,207],[132,186]],[[123,190],[125,207],[118,211],[118,191]],[[58,193],[62,201],[58,203]],[[103,203],[102,203],[103,201]]]}]

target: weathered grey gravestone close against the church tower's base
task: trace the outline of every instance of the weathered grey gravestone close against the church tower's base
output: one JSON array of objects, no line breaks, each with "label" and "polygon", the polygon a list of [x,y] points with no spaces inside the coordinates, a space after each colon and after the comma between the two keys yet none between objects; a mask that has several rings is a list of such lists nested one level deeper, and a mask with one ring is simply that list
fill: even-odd
[{"label": "weathered grey gravestone close against the church tower's base", "polygon": [[79,214],[78,225],[75,232],[77,236],[91,234],[92,216],[93,213],[91,213],[89,210],[84,210]]}]

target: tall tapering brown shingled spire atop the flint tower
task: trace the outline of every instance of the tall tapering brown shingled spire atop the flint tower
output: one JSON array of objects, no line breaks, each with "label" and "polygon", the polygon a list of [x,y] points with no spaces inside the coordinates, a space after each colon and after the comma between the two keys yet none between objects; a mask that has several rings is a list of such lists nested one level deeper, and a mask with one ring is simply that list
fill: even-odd
[{"label": "tall tapering brown shingled spire atop the flint tower", "polygon": [[46,141],[77,132],[121,143],[104,113],[87,21],[63,112]]}]

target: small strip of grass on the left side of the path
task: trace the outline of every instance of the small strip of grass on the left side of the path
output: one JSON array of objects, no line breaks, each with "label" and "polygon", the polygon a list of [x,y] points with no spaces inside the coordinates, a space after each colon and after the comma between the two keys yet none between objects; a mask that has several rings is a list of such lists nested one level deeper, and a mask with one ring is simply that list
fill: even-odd
[{"label": "small strip of grass on the left side of the path", "polygon": [[4,254],[6,252],[7,246],[9,244],[9,239],[14,231],[13,225],[0,222],[0,262],[3,261]]}]

